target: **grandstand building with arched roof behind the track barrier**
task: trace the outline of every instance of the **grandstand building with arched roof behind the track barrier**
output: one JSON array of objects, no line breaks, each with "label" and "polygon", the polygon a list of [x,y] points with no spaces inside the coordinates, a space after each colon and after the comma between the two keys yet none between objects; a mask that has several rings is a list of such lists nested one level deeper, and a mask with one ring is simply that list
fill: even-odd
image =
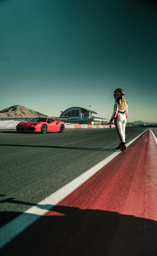
[{"label": "grandstand building with arched roof behind the track barrier", "polygon": [[[71,123],[81,124],[107,124],[108,119],[102,117],[96,117],[97,112],[82,108],[82,107],[70,107],[65,111],[61,111],[60,117],[69,117]],[[71,119],[72,118],[72,119]],[[76,118],[76,119],[75,119]],[[64,120],[64,122],[66,122]],[[68,122],[68,121],[67,121]]]}]

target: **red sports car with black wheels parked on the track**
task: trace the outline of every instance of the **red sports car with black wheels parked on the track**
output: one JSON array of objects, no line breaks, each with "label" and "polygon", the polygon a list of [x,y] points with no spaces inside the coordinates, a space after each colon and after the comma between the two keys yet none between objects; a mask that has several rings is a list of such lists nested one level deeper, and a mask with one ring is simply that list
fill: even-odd
[{"label": "red sports car with black wheels parked on the track", "polygon": [[26,132],[59,132],[63,133],[65,123],[54,120],[50,117],[35,117],[30,121],[22,121],[17,124],[16,130],[21,133]]}]

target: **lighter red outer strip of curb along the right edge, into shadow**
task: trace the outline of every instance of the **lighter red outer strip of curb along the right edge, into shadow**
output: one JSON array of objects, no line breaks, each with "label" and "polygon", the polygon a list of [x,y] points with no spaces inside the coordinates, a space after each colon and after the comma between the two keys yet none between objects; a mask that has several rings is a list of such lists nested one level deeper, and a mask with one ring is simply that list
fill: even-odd
[{"label": "lighter red outer strip of curb along the right edge, into shadow", "polygon": [[[122,212],[123,215],[141,217],[141,223],[137,222],[136,219],[134,223],[124,223],[122,215],[109,255],[156,255],[156,227],[153,221],[148,222],[142,219],[157,221],[156,165],[157,145],[149,129],[148,140],[146,140],[142,150],[133,183]],[[131,254],[128,240],[129,243],[133,244]]]}]

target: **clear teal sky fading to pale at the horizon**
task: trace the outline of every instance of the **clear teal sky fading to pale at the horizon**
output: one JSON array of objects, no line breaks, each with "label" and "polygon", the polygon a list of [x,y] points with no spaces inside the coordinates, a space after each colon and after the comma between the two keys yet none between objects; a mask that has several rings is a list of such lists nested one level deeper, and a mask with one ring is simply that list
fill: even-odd
[{"label": "clear teal sky fading to pale at the horizon", "polygon": [[157,122],[155,1],[0,0],[0,24],[0,110],[110,119],[122,88],[128,122]]}]

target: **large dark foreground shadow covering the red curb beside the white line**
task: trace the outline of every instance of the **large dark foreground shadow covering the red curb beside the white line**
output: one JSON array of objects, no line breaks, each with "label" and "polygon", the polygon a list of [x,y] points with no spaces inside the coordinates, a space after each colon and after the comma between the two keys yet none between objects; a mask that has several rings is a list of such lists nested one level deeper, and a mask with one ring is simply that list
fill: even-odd
[{"label": "large dark foreground shadow covering the red curb beside the white line", "polygon": [[[40,206],[39,206],[40,207]],[[47,209],[47,205],[42,205]],[[49,205],[50,207],[50,205]],[[11,213],[5,212],[5,215]],[[21,214],[17,212],[17,215]],[[1,255],[155,256],[157,222],[57,205],[1,249]],[[26,214],[33,215],[33,214]],[[27,218],[27,216],[26,216]]]}]

